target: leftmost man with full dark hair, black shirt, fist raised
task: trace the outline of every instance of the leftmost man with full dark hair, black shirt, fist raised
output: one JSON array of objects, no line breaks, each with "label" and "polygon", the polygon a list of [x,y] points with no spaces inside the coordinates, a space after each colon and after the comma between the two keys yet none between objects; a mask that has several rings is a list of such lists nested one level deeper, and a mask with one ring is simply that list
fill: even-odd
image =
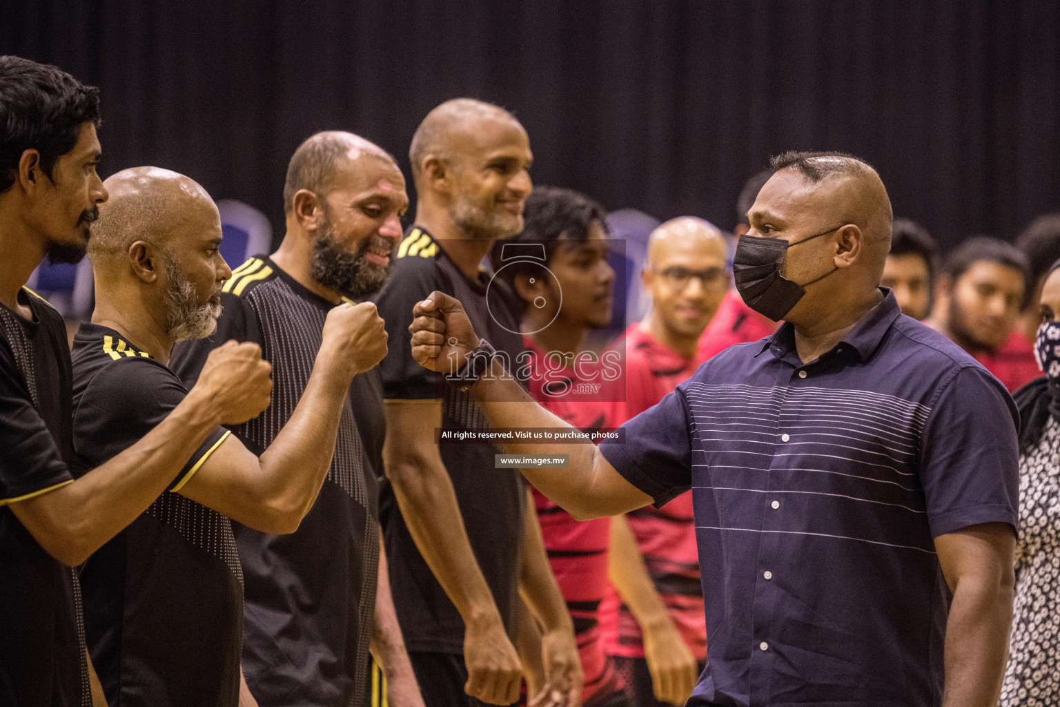
[{"label": "leftmost man with full dark hair, black shirt, fist raised", "polygon": [[170,484],[220,423],[268,404],[269,367],[230,344],[142,440],[71,474],[71,367],[61,317],[24,287],[48,255],[77,262],[107,190],[95,174],[96,89],[0,56],[0,705],[105,704],[89,690],[71,565],[114,536]]}]

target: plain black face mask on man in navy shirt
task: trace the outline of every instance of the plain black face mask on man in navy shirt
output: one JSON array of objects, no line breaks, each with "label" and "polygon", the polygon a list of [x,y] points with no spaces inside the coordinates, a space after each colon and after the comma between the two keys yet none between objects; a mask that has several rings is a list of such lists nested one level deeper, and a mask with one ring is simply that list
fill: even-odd
[{"label": "plain black face mask on man in navy shirt", "polygon": [[732,280],[740,297],[755,312],[773,321],[780,321],[806,295],[806,287],[824,280],[838,270],[833,267],[816,280],[798,284],[780,276],[788,249],[800,243],[837,231],[842,226],[811,235],[808,238],[788,243],[780,238],[763,238],[759,235],[741,235],[732,258]]}]

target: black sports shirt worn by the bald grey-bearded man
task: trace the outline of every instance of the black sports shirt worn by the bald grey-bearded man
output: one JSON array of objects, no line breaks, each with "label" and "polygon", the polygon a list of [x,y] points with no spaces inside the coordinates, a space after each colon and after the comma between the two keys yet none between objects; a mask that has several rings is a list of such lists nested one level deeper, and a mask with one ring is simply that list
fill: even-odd
[{"label": "black sports shirt worn by the bald grey-bearded man", "polygon": [[[188,391],[105,326],[73,342],[74,450],[91,469],[123,452]],[[217,428],[169,491],[82,570],[85,629],[110,707],[235,707],[243,588],[231,525],[176,493],[228,435]]]}]

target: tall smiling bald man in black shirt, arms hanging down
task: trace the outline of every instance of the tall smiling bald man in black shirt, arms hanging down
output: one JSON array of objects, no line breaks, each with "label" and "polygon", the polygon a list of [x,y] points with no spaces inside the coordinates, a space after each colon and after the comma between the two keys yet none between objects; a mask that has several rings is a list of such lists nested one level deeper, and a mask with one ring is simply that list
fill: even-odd
[{"label": "tall smiling bald man in black shirt, arms hanging down", "polygon": [[510,360],[523,352],[511,293],[491,283],[482,259],[494,241],[523,230],[530,141],[507,110],[457,99],[424,118],[409,157],[416,220],[376,300],[390,334],[381,366],[389,481],[381,498],[398,618],[417,676],[430,686],[427,705],[507,705],[519,694],[522,594],[542,629],[542,704],[575,704],[582,673],[573,624],[537,516],[527,512],[526,484],[515,470],[495,469],[489,442],[438,443],[438,428],[488,427],[459,382],[420,367],[408,346],[412,306],[441,289],[467,303]]}]

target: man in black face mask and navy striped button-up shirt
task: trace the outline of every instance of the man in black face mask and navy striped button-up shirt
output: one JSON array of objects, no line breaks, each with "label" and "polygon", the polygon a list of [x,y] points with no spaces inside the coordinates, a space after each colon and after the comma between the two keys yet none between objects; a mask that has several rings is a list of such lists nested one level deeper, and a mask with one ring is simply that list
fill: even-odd
[{"label": "man in black face mask and navy striped button-up shirt", "polygon": [[[773,170],[734,279],[784,320],[776,334],[708,360],[619,439],[506,450],[568,455],[562,473],[523,473],[576,517],[692,490],[708,640],[689,705],[992,707],[1012,617],[1015,408],[880,287],[891,212],[872,167],[785,153]],[[457,300],[432,293],[416,315],[412,355],[474,361],[463,383],[489,424],[563,424],[498,357],[469,355],[489,349]]]}]

